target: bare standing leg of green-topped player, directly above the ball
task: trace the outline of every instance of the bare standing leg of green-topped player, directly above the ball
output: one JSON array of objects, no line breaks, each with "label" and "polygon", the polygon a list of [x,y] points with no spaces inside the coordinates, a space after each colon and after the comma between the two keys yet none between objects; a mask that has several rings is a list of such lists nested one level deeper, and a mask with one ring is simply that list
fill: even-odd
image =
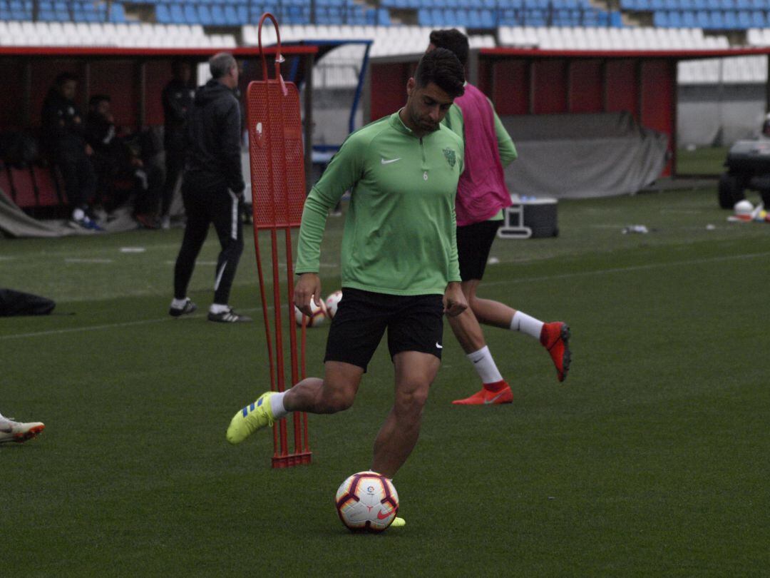
[{"label": "bare standing leg of green-topped player, directly above the ball", "polygon": [[407,461],[420,437],[420,423],[441,362],[435,355],[402,351],[393,357],[396,370],[396,396],[393,408],[374,441],[372,469],[393,478]]}]

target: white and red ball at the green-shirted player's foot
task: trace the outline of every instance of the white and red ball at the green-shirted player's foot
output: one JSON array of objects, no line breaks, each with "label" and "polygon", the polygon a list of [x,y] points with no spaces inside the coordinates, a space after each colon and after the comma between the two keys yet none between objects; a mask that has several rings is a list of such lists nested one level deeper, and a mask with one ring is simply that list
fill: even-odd
[{"label": "white and red ball at the green-shirted player's foot", "polygon": [[385,476],[358,472],[342,482],[336,493],[340,519],[353,532],[382,532],[398,513],[398,494]]}]

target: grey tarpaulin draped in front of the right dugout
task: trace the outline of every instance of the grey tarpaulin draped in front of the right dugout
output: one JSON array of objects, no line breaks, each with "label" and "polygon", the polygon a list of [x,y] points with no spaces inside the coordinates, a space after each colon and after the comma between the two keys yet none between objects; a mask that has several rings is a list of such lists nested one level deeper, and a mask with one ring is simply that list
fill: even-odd
[{"label": "grey tarpaulin draped in front of the right dugout", "polygon": [[636,193],[660,176],[668,137],[630,113],[500,117],[519,158],[507,166],[511,193],[577,199]]}]

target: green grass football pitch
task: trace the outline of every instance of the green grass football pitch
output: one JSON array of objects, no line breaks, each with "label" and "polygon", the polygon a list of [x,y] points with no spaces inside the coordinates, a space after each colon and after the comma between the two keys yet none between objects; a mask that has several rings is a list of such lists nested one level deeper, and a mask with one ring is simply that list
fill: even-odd
[{"label": "green grass football pitch", "polygon": [[[381,536],[348,533],[333,497],[369,467],[390,407],[384,346],[350,411],[310,416],[313,464],[273,470],[266,432],[224,437],[266,388],[263,324],[168,317],[180,230],[0,240],[2,285],[58,301],[51,317],[0,319],[0,411],[47,426],[0,447],[0,568],[766,576],[770,226],[726,216],[714,190],[562,201],[560,237],[497,240],[480,295],[567,321],[571,373],[559,384],[540,344],[487,329],[514,403],[453,406],[478,381],[447,327],[395,479],[407,526]],[[342,220],[329,223],[324,294],[339,285]],[[202,310],[217,250],[212,233],[191,287]],[[259,319],[253,254],[231,303]],[[310,331],[310,375],[326,328]]]}]

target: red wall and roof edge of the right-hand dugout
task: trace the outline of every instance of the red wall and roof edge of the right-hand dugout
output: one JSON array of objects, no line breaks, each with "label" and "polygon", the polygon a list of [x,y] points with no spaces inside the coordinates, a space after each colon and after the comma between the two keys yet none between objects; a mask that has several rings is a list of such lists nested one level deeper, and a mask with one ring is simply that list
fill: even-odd
[{"label": "red wall and roof edge of the right-hand dugout", "polygon": [[[628,111],[643,126],[668,135],[676,160],[677,62],[683,59],[768,54],[768,49],[676,52],[589,52],[533,49],[471,51],[469,79],[494,102],[500,115]],[[407,79],[418,55],[374,59],[370,118],[403,106]]]}]

